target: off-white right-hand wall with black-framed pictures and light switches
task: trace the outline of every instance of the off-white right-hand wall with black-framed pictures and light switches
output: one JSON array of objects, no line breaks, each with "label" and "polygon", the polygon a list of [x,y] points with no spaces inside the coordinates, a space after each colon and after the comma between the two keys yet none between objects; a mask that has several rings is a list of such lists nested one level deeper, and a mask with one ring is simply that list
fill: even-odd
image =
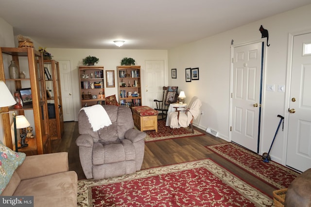
[{"label": "off-white right-hand wall with black-framed pictures and light switches", "polygon": [[[266,49],[267,84],[286,85],[289,33],[311,29],[311,4],[276,16],[271,16],[233,30],[192,42],[169,50],[169,70],[177,68],[177,79],[169,78],[169,85],[178,85],[187,99],[198,96],[202,100],[204,116],[195,124],[219,131],[220,137],[229,140],[230,45],[261,38],[260,25],[269,31],[270,47]],[[200,80],[185,81],[185,68],[199,67]],[[171,77],[171,76],[169,76]],[[265,87],[263,87],[265,88]],[[287,92],[286,92],[287,93]],[[279,122],[277,114],[285,115],[286,93],[265,92],[262,106],[263,119],[259,152],[267,152]],[[186,100],[187,101],[187,100]],[[287,120],[284,120],[286,125]],[[271,157],[285,164],[286,133],[278,131]]]}]

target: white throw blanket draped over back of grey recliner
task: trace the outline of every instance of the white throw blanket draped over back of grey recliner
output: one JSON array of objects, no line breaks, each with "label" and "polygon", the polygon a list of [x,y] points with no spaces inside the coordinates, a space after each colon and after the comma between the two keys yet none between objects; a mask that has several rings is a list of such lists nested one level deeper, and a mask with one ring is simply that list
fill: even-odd
[{"label": "white throw blanket draped over back of grey recliner", "polygon": [[[89,107],[83,107],[81,110],[86,112],[88,122],[91,124],[93,131],[111,125],[111,120],[102,105],[96,104]],[[80,111],[81,111],[80,110]]]}]

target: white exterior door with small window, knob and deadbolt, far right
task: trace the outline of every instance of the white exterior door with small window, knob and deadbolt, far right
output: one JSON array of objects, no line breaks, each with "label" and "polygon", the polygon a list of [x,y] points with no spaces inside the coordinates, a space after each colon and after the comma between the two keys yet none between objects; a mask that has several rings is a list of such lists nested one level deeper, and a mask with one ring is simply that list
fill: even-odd
[{"label": "white exterior door with small window, knob and deadbolt, far right", "polygon": [[311,33],[294,36],[286,165],[311,168]]}]

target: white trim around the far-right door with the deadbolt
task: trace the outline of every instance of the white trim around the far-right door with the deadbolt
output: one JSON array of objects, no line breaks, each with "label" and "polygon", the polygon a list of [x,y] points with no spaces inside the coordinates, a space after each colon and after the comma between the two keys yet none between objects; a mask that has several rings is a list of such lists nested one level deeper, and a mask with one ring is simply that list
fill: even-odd
[{"label": "white trim around the far-right door with the deadbolt", "polygon": [[285,102],[284,102],[284,137],[283,137],[283,154],[282,162],[280,164],[286,166],[286,155],[287,155],[287,141],[288,141],[288,120],[289,120],[289,106],[291,96],[291,83],[292,83],[292,64],[293,64],[293,47],[294,47],[294,36],[311,33],[310,30],[300,32],[290,32],[288,34],[288,49],[287,49],[287,72],[286,72],[286,84],[285,84]]}]

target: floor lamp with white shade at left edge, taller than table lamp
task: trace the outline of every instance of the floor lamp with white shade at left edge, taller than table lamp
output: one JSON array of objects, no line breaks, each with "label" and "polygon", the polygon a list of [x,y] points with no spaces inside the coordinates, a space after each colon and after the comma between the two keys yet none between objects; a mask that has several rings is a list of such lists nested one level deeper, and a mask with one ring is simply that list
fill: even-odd
[{"label": "floor lamp with white shade at left edge, taller than table lamp", "polygon": [[[5,83],[0,80],[0,107],[9,107],[15,105],[17,102],[15,98],[12,96],[10,90],[5,85]],[[2,112],[0,113],[13,113],[13,125],[14,125],[14,135],[15,135],[15,151],[18,151],[17,148],[17,130],[16,130],[16,115],[14,111]]]}]

